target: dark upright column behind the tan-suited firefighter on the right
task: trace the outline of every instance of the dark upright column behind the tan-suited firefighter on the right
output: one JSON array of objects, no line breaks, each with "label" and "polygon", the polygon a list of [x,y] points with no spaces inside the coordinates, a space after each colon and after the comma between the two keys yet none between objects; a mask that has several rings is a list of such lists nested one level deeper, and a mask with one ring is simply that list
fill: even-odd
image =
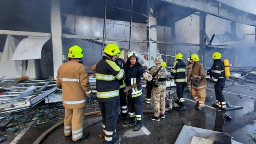
[{"label": "dark upright column behind the tan-suited firefighter on the right", "polygon": [[199,15],[199,44],[201,45],[199,48],[199,59],[202,61],[204,64],[204,48],[205,48],[205,40],[204,40],[204,35],[205,35],[205,18],[206,14],[205,13],[200,13]]}]

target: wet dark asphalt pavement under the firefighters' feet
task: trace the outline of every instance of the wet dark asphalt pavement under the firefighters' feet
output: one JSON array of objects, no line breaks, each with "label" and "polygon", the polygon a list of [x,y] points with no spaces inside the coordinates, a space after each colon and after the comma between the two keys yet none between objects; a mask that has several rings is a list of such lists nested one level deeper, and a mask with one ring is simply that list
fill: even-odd
[{"label": "wet dark asphalt pavement under the firefighters' feet", "polygon": [[[172,87],[171,91],[175,92],[175,89]],[[160,122],[150,119],[153,114],[144,114],[145,124],[140,131],[132,131],[134,125],[124,126],[123,121],[117,123],[117,137],[122,138],[122,144],[174,144],[184,125],[228,133],[237,142],[256,144],[254,139],[256,137],[256,84],[243,81],[226,81],[223,92],[226,101],[230,105],[243,107],[243,109],[233,111],[216,111],[211,107],[205,107],[203,111],[198,111],[194,107],[195,103],[190,93],[185,92],[184,94],[185,98],[191,100],[186,101],[186,111],[176,111],[174,108],[172,111],[166,112],[166,118],[161,119]],[[211,106],[213,102],[215,102],[215,93],[211,83],[208,83],[205,104]],[[224,114],[229,114],[232,120],[223,118]],[[49,127],[49,124],[30,127],[20,138],[18,144],[33,143]],[[101,144],[104,142],[104,138],[98,137],[98,134],[102,134],[101,116],[85,117],[85,131],[89,131],[89,138],[76,142],[77,144]],[[42,144],[49,143],[73,144],[74,142],[72,142],[71,137],[66,138],[64,136],[63,126],[60,126],[42,142]]]}]

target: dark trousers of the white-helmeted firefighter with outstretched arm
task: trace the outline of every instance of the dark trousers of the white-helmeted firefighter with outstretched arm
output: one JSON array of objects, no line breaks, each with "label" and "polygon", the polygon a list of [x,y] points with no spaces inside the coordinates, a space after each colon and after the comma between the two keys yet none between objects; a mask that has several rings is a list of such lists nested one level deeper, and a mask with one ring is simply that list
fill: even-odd
[{"label": "dark trousers of the white-helmeted firefighter with outstretched arm", "polygon": [[142,109],[142,96],[137,98],[128,99],[128,111],[129,111],[129,121],[137,121],[137,124],[144,123],[143,121],[143,109]]}]

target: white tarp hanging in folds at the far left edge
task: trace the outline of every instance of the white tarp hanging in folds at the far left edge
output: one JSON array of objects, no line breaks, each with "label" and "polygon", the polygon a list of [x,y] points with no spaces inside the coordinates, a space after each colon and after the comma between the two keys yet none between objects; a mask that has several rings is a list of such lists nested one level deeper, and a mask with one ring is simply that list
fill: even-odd
[{"label": "white tarp hanging in folds at the far left edge", "polygon": [[0,60],[0,77],[6,76],[4,79],[13,79],[22,77],[22,61],[12,61],[13,53],[19,40],[8,35],[4,45],[4,51]]}]

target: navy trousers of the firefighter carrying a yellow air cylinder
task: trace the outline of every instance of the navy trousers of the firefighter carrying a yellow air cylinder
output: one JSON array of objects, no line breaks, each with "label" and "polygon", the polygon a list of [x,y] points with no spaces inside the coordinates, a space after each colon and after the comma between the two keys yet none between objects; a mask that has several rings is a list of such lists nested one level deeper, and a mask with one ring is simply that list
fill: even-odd
[{"label": "navy trousers of the firefighter carrying a yellow air cylinder", "polygon": [[223,89],[225,87],[225,79],[219,78],[216,84],[214,85],[215,96],[216,96],[216,105],[219,107],[226,107],[226,101],[223,95]]}]

